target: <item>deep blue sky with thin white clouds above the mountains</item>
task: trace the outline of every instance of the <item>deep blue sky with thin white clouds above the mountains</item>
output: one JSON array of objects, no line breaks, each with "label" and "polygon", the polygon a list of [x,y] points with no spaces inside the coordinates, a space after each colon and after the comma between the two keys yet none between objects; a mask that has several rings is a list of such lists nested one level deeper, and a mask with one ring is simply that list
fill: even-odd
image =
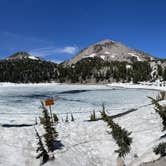
[{"label": "deep blue sky with thin white clouds above the mountains", "polygon": [[63,61],[104,39],[166,58],[165,0],[0,0],[0,58]]}]

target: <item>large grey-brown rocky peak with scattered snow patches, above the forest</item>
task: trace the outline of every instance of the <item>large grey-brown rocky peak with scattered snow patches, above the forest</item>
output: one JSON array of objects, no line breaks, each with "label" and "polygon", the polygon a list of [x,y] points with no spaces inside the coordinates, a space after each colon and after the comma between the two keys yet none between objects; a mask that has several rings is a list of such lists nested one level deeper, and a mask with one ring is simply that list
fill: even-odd
[{"label": "large grey-brown rocky peak with scattered snow patches, above the forest", "polygon": [[151,61],[155,58],[143,51],[135,50],[112,40],[103,40],[81,50],[65,64],[71,65],[88,57],[99,57],[105,61]]}]

